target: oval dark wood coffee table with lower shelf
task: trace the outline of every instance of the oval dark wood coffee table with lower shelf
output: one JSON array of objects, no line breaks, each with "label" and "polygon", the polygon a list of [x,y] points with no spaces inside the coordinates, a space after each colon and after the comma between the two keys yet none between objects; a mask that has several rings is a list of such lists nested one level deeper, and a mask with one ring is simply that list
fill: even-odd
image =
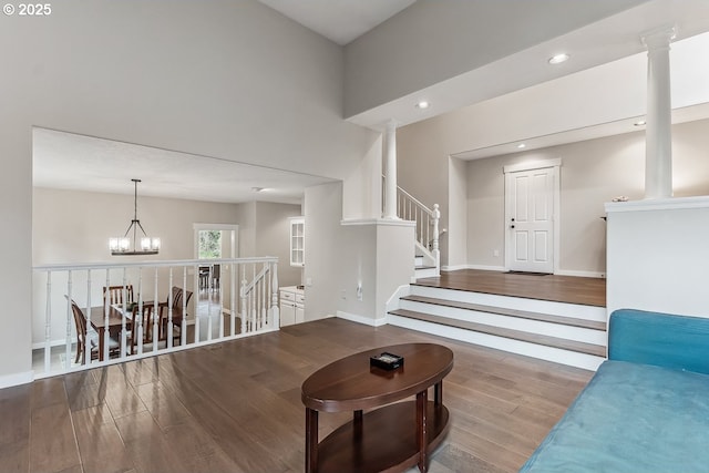
[{"label": "oval dark wood coffee table with lower shelf", "polygon": [[[382,352],[403,357],[403,367],[392,371],[370,367],[370,357]],[[306,407],[306,471],[399,472],[418,464],[425,472],[429,452],[448,431],[443,378],[452,369],[453,352],[449,348],[405,343],[362,351],[312,373],[302,383],[301,393]],[[433,401],[428,399],[430,387],[434,387]],[[415,401],[392,404],[410,395],[415,395]],[[319,411],[354,414],[352,421],[318,443]]]}]

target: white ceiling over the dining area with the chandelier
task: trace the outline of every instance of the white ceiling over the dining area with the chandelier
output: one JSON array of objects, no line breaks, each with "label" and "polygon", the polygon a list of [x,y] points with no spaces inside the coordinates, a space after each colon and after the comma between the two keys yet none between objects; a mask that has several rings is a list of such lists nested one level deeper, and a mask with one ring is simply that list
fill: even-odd
[{"label": "white ceiling over the dining area with the chandelier", "polygon": [[[192,200],[301,204],[304,189],[331,182],[215,157],[35,127],[33,185]],[[260,189],[257,191],[256,188]]]}]

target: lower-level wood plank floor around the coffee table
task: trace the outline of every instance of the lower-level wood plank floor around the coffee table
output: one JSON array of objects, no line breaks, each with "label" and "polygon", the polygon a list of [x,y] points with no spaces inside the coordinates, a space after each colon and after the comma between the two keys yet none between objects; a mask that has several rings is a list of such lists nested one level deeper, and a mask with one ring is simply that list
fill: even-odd
[{"label": "lower-level wood plank floor around the coffee table", "polygon": [[[450,347],[451,430],[431,472],[515,472],[592,372],[342,319],[0,390],[1,472],[299,472],[300,384],[387,345]],[[350,419],[320,414],[320,438]]]}]

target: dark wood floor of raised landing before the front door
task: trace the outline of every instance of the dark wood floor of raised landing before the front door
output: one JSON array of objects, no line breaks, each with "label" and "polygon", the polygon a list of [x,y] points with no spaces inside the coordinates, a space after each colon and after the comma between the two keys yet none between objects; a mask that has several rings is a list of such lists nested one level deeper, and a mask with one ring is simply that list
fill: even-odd
[{"label": "dark wood floor of raised landing before the front door", "polygon": [[440,277],[419,279],[417,285],[606,307],[603,278],[462,269],[441,271]]}]

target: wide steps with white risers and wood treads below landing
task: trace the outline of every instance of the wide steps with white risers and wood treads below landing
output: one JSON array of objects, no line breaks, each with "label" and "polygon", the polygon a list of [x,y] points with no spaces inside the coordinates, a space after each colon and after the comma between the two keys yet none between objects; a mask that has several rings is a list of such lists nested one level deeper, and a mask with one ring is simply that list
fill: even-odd
[{"label": "wide steps with white risers and wood treads below landing", "polygon": [[587,370],[606,357],[606,309],[412,284],[388,323]]}]

